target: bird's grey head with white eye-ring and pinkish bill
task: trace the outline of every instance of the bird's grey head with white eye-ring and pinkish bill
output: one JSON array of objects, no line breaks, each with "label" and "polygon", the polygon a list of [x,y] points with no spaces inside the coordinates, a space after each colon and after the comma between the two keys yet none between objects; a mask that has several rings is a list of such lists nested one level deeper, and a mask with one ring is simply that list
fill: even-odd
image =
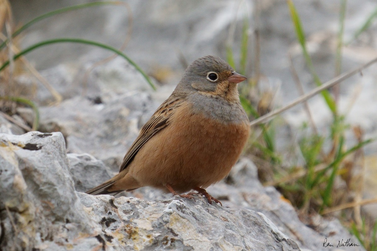
[{"label": "bird's grey head with white eye-ring and pinkish bill", "polygon": [[204,56],[187,67],[177,88],[181,91],[196,90],[210,93],[215,92],[220,84],[236,86],[245,79],[221,58]]}]

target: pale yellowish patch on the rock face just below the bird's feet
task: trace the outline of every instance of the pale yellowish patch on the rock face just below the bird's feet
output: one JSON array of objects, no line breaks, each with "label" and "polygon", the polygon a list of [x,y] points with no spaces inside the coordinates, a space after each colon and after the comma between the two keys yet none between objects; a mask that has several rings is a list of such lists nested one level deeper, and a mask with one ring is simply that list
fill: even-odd
[{"label": "pale yellowish patch on the rock face just below the bird's feet", "polygon": [[195,250],[210,250],[213,247],[207,237],[197,233],[195,226],[176,212],[170,215],[167,227],[184,240],[184,245],[192,246]]}]

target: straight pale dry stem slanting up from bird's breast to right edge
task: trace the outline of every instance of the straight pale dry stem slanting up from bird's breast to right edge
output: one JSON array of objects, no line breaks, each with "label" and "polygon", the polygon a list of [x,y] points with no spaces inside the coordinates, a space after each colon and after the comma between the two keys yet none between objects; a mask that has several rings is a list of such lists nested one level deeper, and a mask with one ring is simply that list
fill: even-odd
[{"label": "straight pale dry stem slanting up from bird's breast to right edge", "polygon": [[335,85],[337,83],[340,83],[340,82],[344,81],[345,79],[347,79],[347,78],[355,75],[356,73],[361,73],[361,71],[363,69],[368,68],[369,66],[371,66],[375,62],[377,62],[377,58],[372,59],[371,61],[367,62],[366,64],[363,64],[362,66],[360,66],[360,67],[358,67],[358,68],[356,68],[354,70],[348,71],[346,73],[343,73],[342,75],[337,76],[336,78],[333,78],[332,80],[330,80],[330,81],[322,84],[321,86],[313,89],[309,93],[307,93],[305,95],[302,95],[301,97],[298,97],[297,99],[293,100],[288,105],[283,106],[282,108],[276,109],[276,110],[272,111],[271,113],[268,113],[268,114],[266,114],[266,115],[264,115],[262,117],[259,117],[256,120],[251,121],[250,122],[250,126],[259,125],[261,123],[267,122],[268,120],[270,120],[275,115],[280,114],[280,113],[282,113],[282,112],[284,112],[284,111],[292,108],[293,106],[295,106],[295,105],[297,105],[299,103],[302,103],[305,100],[310,99],[311,97],[317,95],[321,91],[323,91],[323,90],[325,90],[327,88],[330,88],[330,87],[332,87],[333,85]]}]

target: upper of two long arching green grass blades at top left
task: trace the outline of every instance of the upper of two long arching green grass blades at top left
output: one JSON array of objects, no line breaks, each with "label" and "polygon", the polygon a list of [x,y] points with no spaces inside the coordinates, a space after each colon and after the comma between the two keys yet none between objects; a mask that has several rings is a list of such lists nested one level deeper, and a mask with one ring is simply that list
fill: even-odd
[{"label": "upper of two long arching green grass blades at top left", "polygon": [[[123,4],[123,3],[121,1],[99,1],[99,2],[84,3],[84,4],[80,4],[80,5],[64,7],[64,8],[61,8],[61,9],[50,11],[50,12],[47,12],[45,14],[42,14],[42,15],[30,20],[29,22],[27,22],[26,24],[24,24],[23,26],[21,26],[20,28],[15,30],[15,32],[13,32],[13,34],[12,34],[12,38],[14,38],[18,34],[20,34],[23,30],[25,30],[28,27],[32,26],[33,24],[37,23],[38,21],[41,21],[41,20],[48,18],[48,17],[52,17],[52,16],[57,15],[57,14],[61,14],[61,13],[64,13],[64,12],[69,12],[69,11],[74,11],[74,10],[77,10],[77,9],[84,9],[84,8],[93,7],[93,6],[119,5],[119,4]],[[8,42],[8,39],[5,40],[0,45],[0,49],[2,49],[6,45],[7,42]]]}]

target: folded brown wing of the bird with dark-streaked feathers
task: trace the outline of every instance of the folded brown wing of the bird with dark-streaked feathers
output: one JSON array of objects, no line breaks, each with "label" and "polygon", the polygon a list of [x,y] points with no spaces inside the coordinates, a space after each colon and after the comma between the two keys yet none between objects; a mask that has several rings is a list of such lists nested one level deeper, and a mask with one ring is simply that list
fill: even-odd
[{"label": "folded brown wing of the bird with dark-streaked feathers", "polygon": [[160,105],[148,122],[141,128],[139,136],[124,156],[119,172],[127,168],[135,155],[153,135],[169,125],[170,117],[174,113],[174,110],[181,106],[182,102],[182,97],[178,97],[173,93]]}]

